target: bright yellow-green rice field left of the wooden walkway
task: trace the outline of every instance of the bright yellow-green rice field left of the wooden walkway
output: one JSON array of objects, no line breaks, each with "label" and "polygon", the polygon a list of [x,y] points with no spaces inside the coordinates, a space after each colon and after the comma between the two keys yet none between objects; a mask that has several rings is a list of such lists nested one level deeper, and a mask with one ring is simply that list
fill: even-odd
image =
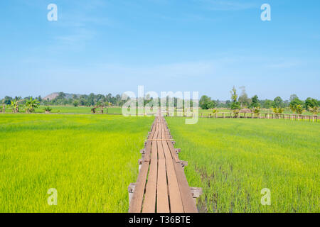
[{"label": "bright yellow-green rice field left of the wooden walkway", "polygon": [[153,120],[0,114],[0,212],[127,212]]}]

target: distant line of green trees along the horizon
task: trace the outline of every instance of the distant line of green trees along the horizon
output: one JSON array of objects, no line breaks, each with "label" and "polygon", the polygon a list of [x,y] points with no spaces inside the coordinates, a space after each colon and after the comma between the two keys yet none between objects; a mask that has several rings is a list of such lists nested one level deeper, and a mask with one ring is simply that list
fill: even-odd
[{"label": "distant line of green trees along the horizon", "polygon": [[[292,94],[289,100],[283,100],[280,96],[275,97],[273,100],[271,99],[259,99],[257,95],[249,98],[247,93],[245,92],[245,87],[240,87],[241,94],[238,95],[235,87],[230,91],[230,100],[220,101],[211,99],[209,96],[203,95],[199,100],[199,106],[201,109],[217,109],[217,108],[227,108],[232,109],[237,112],[240,109],[252,109],[253,112],[258,113],[260,109],[273,109],[274,113],[282,114],[284,109],[291,109],[296,114],[302,114],[302,111],[311,111],[313,113],[318,113],[320,100],[313,99],[311,97],[306,100],[301,100],[296,94]],[[128,99],[130,99],[128,97]],[[139,98],[143,99],[143,98]],[[167,97],[167,100],[169,97]],[[142,100],[144,106],[152,101],[153,98],[150,96],[144,97]],[[138,99],[136,100],[139,101]],[[160,99],[159,105],[160,105]],[[178,98],[173,98],[174,107],[178,106],[178,102],[181,101]],[[55,106],[55,105],[73,105],[73,106],[123,106],[127,100],[122,100],[122,96],[117,94],[116,96],[112,96],[112,94],[94,94],[91,93],[89,95],[82,94],[72,94],[67,95],[64,92],[59,92],[54,99],[42,99],[41,96],[32,97],[27,96],[25,98],[21,98],[21,96],[11,97],[5,96],[2,99],[3,109],[5,105],[11,105],[13,110],[19,109],[21,106],[26,109],[26,111],[32,112],[39,105],[44,106]],[[184,106],[184,100],[181,101]],[[168,106],[167,101],[167,106]],[[191,101],[191,106],[193,106]]]}]

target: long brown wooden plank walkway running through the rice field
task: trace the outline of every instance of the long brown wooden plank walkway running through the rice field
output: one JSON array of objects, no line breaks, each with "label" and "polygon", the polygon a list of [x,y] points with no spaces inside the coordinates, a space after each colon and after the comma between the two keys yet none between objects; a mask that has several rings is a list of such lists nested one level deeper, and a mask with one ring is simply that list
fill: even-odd
[{"label": "long brown wooden plank walkway running through the rice field", "polygon": [[188,186],[184,165],[166,121],[156,116],[139,160],[137,182],[129,185],[129,213],[196,213],[201,189]]}]

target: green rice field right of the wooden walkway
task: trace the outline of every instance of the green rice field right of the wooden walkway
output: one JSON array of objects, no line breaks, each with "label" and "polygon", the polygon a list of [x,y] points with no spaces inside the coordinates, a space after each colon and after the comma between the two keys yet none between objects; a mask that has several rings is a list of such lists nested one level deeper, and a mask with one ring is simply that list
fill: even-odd
[{"label": "green rice field right of the wooden walkway", "polygon": [[[166,118],[200,211],[319,212],[320,125],[304,121]],[[270,189],[271,205],[260,203]]]}]

